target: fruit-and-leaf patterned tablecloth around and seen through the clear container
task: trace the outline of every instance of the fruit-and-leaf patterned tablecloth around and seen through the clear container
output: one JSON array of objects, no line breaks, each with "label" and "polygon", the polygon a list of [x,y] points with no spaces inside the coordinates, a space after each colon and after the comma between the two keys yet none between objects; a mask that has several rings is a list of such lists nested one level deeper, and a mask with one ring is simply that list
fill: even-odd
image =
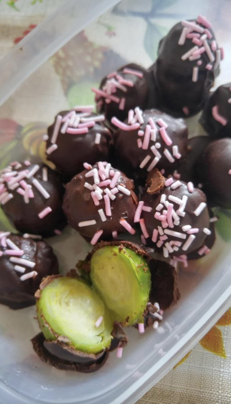
[{"label": "fruit-and-leaf patterned tablecloth around and seen through the clear container", "polygon": [[[0,59],[64,2],[0,0]],[[185,0],[180,3],[182,7],[179,7],[177,0],[134,0],[133,8],[129,11],[129,2],[123,2],[97,21],[100,40],[95,40],[95,31],[89,27],[59,50],[21,86],[20,97],[17,90],[0,108],[0,166],[12,160],[19,149],[25,157],[40,156],[45,159],[42,136],[58,110],[77,103],[92,103],[94,96],[90,88],[98,86],[102,76],[128,60],[150,65],[156,56],[160,37],[177,19],[187,14],[187,8],[190,16],[193,7],[204,12],[204,6],[199,1],[188,4]],[[218,3],[217,0],[211,1],[208,18],[219,21],[220,15],[223,25],[220,27],[215,23],[215,31],[219,38],[227,42],[230,36],[230,0],[223,2],[222,8]],[[137,60],[129,45],[131,38],[124,37],[124,48],[121,51],[119,39],[123,35],[123,17],[127,18],[127,23],[133,28],[139,20],[139,34],[136,36],[135,29],[132,32],[135,46],[139,49]],[[32,85],[36,89],[40,88],[39,92],[36,90],[37,99],[33,108],[30,106],[29,95]],[[44,108],[45,102],[51,104],[48,109]],[[219,215],[221,221],[217,231],[228,242],[231,231],[227,221],[230,223],[231,213],[223,210]],[[0,220],[2,227],[10,228],[1,213]],[[226,223],[225,227],[223,223]],[[200,269],[194,265],[189,270],[194,272]],[[149,403],[231,403],[231,309],[173,370],[139,400],[139,404]]]}]

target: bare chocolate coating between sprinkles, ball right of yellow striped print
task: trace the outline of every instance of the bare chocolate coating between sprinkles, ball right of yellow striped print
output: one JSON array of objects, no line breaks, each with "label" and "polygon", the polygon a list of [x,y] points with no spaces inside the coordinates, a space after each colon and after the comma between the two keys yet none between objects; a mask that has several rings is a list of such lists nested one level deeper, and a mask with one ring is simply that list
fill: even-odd
[{"label": "bare chocolate coating between sprinkles, ball right of yellow striped print", "polygon": [[[65,116],[68,112],[62,111],[58,115]],[[94,121],[94,117],[96,116],[96,114],[91,113],[87,119],[92,117],[92,121]],[[52,145],[51,139],[56,118],[54,123],[48,128],[47,149]],[[57,170],[64,175],[65,180],[69,181],[74,175],[80,173],[83,170],[83,163],[86,161],[89,164],[95,164],[97,161],[108,159],[112,136],[110,130],[106,128],[104,121],[96,122],[94,126],[89,127],[86,134],[77,135],[67,132],[64,134],[61,133],[62,125],[63,123],[59,128],[56,140],[58,148],[51,154],[47,154],[47,158],[55,164]],[[101,135],[99,144],[95,144],[96,133]]]}]

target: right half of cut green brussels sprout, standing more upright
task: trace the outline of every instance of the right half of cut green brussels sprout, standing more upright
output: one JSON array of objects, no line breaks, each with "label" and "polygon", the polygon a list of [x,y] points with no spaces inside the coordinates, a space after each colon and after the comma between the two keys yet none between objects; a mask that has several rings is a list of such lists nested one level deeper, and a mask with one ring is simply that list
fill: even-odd
[{"label": "right half of cut green brussels sprout, standing more upright", "polygon": [[99,248],[92,255],[90,277],[113,320],[125,325],[143,322],[151,286],[144,258],[129,248]]}]

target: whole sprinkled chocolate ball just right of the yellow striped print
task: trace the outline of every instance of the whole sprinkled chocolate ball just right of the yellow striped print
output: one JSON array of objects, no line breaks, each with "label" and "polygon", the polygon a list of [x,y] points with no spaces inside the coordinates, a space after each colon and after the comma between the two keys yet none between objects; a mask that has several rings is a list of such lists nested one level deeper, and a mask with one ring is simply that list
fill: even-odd
[{"label": "whole sprinkled chocolate ball just right of the yellow striped print", "polygon": [[59,112],[48,128],[46,154],[69,181],[83,169],[83,163],[107,160],[112,136],[104,115],[92,113],[94,107],[75,107]]}]

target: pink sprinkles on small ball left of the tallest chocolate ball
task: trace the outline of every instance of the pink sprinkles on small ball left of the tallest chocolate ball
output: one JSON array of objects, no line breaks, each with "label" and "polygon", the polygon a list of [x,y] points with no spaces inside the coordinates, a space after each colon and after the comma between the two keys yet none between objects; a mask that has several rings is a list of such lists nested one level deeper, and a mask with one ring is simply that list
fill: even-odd
[{"label": "pink sprinkles on small ball left of the tallest chocolate ball", "polygon": [[[124,67],[123,74],[130,74],[136,76],[138,78],[143,78],[144,74],[140,70],[129,69]],[[102,90],[98,90],[98,88],[92,88],[92,91],[96,94],[97,106],[101,107],[103,104],[102,100],[99,100],[101,97],[105,99],[106,104],[110,104],[112,101],[119,105],[119,109],[123,111],[125,109],[125,97],[118,97],[113,95],[117,92],[117,90],[123,91],[123,93],[127,93],[129,87],[133,87],[133,82],[131,80],[126,80],[117,72],[113,72],[108,74],[106,83],[104,84]]]}]

